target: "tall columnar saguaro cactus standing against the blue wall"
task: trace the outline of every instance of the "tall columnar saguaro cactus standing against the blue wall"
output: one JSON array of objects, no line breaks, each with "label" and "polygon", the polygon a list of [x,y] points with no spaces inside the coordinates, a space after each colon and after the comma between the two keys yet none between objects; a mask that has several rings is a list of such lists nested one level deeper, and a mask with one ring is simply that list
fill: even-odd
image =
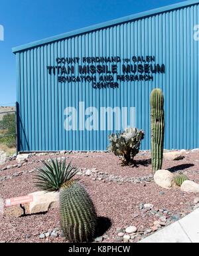
[{"label": "tall columnar saguaro cactus standing against the blue wall", "polygon": [[163,165],[163,146],[165,138],[164,97],[161,89],[151,92],[151,158],[153,172]]}]

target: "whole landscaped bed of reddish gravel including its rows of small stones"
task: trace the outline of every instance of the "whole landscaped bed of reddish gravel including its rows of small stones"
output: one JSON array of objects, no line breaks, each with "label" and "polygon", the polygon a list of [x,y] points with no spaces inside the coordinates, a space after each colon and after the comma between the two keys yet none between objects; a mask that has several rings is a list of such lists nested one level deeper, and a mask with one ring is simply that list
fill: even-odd
[{"label": "whole landscaped bed of reddish gravel including its rows of small stones", "polygon": [[[111,153],[66,152],[30,154],[27,162],[14,158],[0,166],[0,197],[3,199],[36,192],[33,178],[42,160],[66,158],[79,168],[76,178],[84,185],[98,215],[94,241],[135,243],[198,207],[199,193],[182,192],[177,186],[164,189],[153,181],[151,153],[139,152],[127,166]],[[187,151],[182,160],[163,160],[163,168],[174,175],[185,174],[199,182],[199,150]],[[27,205],[25,205],[27,207]],[[0,214],[0,241],[66,243],[59,209],[23,214],[19,206]]]}]

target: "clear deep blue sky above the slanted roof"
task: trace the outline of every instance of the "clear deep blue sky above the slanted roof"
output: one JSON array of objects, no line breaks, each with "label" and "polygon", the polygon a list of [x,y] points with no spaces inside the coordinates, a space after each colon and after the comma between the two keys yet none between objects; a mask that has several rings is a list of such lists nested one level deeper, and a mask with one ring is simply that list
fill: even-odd
[{"label": "clear deep blue sky above the slanted roof", "polygon": [[96,23],[178,3],[180,0],[1,0],[0,106],[16,101],[11,48]]}]

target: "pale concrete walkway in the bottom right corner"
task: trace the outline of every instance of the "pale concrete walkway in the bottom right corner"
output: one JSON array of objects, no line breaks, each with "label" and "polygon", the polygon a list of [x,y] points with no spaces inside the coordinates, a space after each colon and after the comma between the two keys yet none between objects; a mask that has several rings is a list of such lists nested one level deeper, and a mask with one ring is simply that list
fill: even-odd
[{"label": "pale concrete walkway in the bottom right corner", "polygon": [[199,208],[139,243],[199,243]]}]

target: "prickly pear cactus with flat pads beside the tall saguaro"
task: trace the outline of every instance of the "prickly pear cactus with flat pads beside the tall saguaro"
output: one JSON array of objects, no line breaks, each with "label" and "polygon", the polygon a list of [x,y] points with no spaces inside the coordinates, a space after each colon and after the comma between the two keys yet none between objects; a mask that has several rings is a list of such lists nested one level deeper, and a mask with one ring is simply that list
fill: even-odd
[{"label": "prickly pear cactus with flat pads beside the tall saguaro", "polygon": [[121,156],[123,164],[130,164],[138,154],[145,133],[137,128],[127,128],[121,134],[111,134],[109,136],[109,151],[115,156]]}]

